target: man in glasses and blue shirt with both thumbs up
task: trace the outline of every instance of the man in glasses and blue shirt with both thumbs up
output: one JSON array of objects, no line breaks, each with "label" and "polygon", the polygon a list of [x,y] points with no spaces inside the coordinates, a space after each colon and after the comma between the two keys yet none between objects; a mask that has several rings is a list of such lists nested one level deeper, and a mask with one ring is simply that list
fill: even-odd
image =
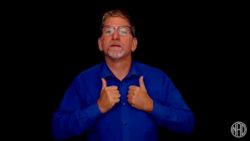
[{"label": "man in glasses and blue shirt with both thumbs up", "polygon": [[83,71],[66,91],[53,117],[56,139],[155,141],[159,126],[192,132],[193,113],[169,77],[132,61],[137,38],[127,13],[104,14],[98,46],[105,62]]}]

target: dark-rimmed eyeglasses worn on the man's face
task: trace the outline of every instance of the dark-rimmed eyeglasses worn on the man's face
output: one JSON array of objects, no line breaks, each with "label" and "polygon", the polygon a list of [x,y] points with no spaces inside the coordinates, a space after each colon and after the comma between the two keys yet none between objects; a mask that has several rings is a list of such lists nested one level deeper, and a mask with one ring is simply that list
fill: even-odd
[{"label": "dark-rimmed eyeglasses worn on the man's face", "polygon": [[103,26],[102,32],[107,36],[111,36],[115,31],[118,31],[119,35],[127,36],[131,34],[131,27],[129,26]]}]

